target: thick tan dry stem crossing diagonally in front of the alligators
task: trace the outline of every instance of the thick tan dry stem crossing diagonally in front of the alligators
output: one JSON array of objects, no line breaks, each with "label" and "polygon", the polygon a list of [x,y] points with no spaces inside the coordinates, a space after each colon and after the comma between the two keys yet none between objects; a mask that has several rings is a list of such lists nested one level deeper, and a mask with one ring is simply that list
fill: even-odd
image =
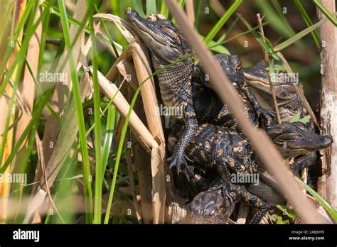
[{"label": "thick tan dry stem crossing diagonally in front of the alligators", "polygon": [[[304,197],[299,184],[291,177],[289,168],[282,162],[282,156],[273,146],[272,141],[263,131],[255,129],[247,120],[242,110],[242,102],[235,91],[235,88],[230,84],[227,76],[218,67],[214,57],[205,45],[200,41],[198,35],[193,31],[193,27],[188,25],[188,21],[183,11],[176,4],[176,1],[166,0],[166,5],[173,13],[176,21],[180,24],[181,30],[186,36],[188,43],[196,51],[200,62],[204,65],[204,70],[210,75],[210,81],[213,83],[216,92],[219,92],[219,97],[228,105],[233,116],[237,119],[242,130],[245,131],[247,138],[250,139],[252,146],[257,151],[262,162],[267,169],[276,177],[279,185],[282,187],[284,194],[289,201],[294,204],[296,211],[301,216],[304,222],[309,224],[323,223],[321,215],[316,211],[314,205]],[[227,92],[224,94],[223,92]]]}]

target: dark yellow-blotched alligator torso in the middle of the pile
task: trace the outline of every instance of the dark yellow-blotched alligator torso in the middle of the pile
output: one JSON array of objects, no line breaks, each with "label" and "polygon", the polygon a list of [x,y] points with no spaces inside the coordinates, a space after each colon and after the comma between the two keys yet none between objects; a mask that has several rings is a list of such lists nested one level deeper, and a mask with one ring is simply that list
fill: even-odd
[{"label": "dark yellow-blotched alligator torso in the middle of the pile", "polygon": [[[177,130],[176,130],[177,131]],[[176,145],[180,132],[169,136],[168,148]],[[257,172],[257,163],[252,156],[250,144],[231,128],[202,124],[186,147],[188,160],[202,170],[218,170],[223,180],[229,179],[232,172]]]}]

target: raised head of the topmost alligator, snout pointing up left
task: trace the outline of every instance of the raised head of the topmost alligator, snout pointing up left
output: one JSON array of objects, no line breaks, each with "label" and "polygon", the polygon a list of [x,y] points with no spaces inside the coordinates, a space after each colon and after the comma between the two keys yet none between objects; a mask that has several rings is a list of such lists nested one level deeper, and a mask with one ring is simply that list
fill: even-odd
[{"label": "raised head of the topmost alligator, snout pointing up left", "polygon": [[139,35],[153,55],[170,64],[192,53],[186,40],[174,24],[166,19],[149,21],[141,18],[137,11],[127,11],[127,21]]}]

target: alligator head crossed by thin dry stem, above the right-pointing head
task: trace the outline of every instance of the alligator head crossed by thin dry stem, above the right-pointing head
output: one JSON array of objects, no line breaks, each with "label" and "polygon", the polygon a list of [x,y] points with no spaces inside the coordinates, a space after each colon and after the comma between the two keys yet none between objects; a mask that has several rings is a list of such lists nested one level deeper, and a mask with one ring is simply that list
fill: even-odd
[{"label": "alligator head crossed by thin dry stem, above the right-pointing head", "polygon": [[[264,61],[260,61],[253,67],[243,68],[243,76],[245,78],[245,82],[256,89],[257,92],[259,92],[267,101],[269,106],[273,108],[274,102],[272,100],[272,92],[270,91],[267,72],[264,69]],[[282,122],[290,121],[297,112],[302,111],[303,109],[301,99],[294,88],[294,82],[291,82],[290,79],[282,79],[285,75],[287,75],[287,73],[278,72],[275,74],[275,79],[279,79],[277,79],[277,82],[273,82]],[[302,87],[301,82],[298,83],[299,87]]]}]

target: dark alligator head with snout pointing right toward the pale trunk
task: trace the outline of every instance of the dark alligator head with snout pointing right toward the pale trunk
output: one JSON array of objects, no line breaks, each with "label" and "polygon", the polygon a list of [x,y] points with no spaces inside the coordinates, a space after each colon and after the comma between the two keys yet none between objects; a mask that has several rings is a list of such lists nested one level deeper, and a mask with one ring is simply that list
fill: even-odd
[{"label": "dark alligator head with snout pointing right toward the pale trunk", "polygon": [[285,159],[306,155],[327,148],[333,143],[330,136],[313,133],[301,122],[278,124],[267,133]]}]

